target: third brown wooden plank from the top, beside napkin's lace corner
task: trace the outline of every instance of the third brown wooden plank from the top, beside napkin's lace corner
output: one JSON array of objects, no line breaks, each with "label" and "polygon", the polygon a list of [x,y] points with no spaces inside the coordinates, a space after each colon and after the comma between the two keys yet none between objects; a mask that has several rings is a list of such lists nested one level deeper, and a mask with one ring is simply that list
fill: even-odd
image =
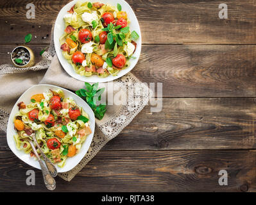
[{"label": "third brown wooden plank from the top, beside napkin's lace corner", "polygon": [[[103,150],[255,149],[256,99],[163,99],[133,119]],[[0,134],[0,150],[8,150]]]}]

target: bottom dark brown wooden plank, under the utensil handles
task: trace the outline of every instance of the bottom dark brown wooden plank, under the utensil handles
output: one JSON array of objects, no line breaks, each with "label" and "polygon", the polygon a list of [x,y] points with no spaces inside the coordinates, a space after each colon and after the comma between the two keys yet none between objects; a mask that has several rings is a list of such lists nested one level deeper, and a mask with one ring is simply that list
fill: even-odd
[{"label": "bottom dark brown wooden plank, under the utensil handles", "polygon": [[[55,192],[255,192],[255,151],[101,151]],[[26,185],[26,170],[12,152],[0,152],[1,192],[45,192],[42,174]],[[219,170],[228,186],[219,186]]]}]

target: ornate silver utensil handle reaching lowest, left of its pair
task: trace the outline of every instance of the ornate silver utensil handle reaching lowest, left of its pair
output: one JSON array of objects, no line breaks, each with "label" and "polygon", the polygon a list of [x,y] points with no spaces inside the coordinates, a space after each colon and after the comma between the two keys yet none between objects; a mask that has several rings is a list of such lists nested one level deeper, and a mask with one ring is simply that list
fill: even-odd
[{"label": "ornate silver utensil handle reaching lowest, left of its pair", "polygon": [[35,153],[35,156],[37,157],[37,160],[41,167],[42,176],[44,177],[44,184],[46,184],[46,188],[48,190],[55,190],[55,188],[56,188],[55,179],[51,176],[51,174],[49,173],[49,170],[46,168],[46,166],[44,166],[44,163],[42,162],[40,156],[37,154],[37,150],[35,149],[35,146],[31,140],[30,140],[30,145],[31,145],[33,152]]}]

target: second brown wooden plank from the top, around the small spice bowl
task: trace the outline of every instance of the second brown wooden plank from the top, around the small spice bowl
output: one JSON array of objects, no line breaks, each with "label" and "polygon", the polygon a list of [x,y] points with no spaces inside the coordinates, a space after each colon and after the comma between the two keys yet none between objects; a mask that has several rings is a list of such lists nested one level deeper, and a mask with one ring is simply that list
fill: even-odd
[{"label": "second brown wooden plank from the top, around the small spice bowl", "polygon": [[[30,45],[36,53],[46,45]],[[15,45],[2,45],[0,64]],[[256,45],[143,45],[133,74],[163,97],[256,97]]]}]

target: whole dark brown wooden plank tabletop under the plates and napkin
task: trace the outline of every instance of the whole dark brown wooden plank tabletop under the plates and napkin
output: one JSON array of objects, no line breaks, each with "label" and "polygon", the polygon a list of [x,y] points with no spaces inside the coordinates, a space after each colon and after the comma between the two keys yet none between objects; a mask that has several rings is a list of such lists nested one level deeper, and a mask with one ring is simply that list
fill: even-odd
[{"label": "whole dark brown wooden plank tabletop under the plates and napkin", "polygon": [[[0,64],[32,33],[37,60],[49,45],[51,24],[69,0],[1,0]],[[26,19],[26,4],[35,19]],[[132,70],[141,81],[163,83],[163,108],[150,107],[55,191],[255,192],[256,1],[128,0],[142,31],[142,53]],[[44,38],[46,37],[46,38]],[[46,191],[39,170],[26,170],[0,133],[0,191]],[[219,170],[228,186],[219,186]]]}]

